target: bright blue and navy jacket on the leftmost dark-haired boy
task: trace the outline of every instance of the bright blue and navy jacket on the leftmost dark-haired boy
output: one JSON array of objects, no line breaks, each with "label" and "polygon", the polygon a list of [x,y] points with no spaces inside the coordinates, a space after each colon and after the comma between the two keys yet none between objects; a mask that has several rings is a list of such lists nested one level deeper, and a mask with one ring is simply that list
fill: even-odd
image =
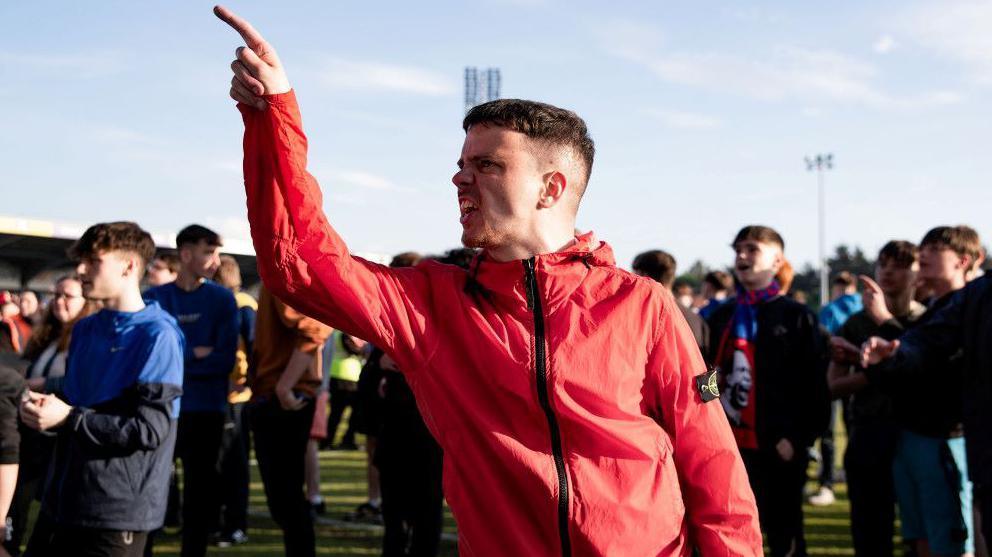
[{"label": "bright blue and navy jacket on the leftmost dark-haired boy", "polygon": [[183,336],[154,303],[102,310],[72,331],[42,511],[64,525],[149,531],[162,525],[182,395]]}]

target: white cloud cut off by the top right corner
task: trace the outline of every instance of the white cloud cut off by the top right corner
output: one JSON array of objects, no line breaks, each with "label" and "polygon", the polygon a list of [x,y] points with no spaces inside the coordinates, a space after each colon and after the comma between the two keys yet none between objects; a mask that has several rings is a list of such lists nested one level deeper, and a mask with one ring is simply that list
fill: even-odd
[{"label": "white cloud cut off by the top right corner", "polygon": [[926,2],[899,18],[910,37],[967,65],[976,81],[992,84],[992,2]]}]

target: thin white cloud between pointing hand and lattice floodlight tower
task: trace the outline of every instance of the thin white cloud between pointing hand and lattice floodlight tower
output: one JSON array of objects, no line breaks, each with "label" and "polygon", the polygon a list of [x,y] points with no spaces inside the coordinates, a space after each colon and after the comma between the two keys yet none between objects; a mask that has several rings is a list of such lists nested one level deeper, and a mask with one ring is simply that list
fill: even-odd
[{"label": "thin white cloud between pointing hand and lattice floodlight tower", "polygon": [[454,80],[416,66],[332,59],[323,66],[320,82],[331,89],[386,91],[426,96],[457,94]]}]

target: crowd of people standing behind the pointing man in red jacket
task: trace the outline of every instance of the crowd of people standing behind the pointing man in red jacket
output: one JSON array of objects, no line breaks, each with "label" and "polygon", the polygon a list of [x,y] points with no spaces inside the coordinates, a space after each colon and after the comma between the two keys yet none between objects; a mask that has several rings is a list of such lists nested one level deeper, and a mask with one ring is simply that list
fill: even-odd
[{"label": "crowd of people standing behind the pointing man in red jacket", "polygon": [[[966,353],[947,349],[900,373],[863,365],[861,348],[873,337],[925,331],[962,303],[969,283],[987,281],[977,280],[978,234],[940,226],[919,244],[888,242],[873,277],[834,276],[818,315],[795,299],[775,230],[745,227],[732,245],[728,271],[707,273],[698,288],[679,284],[675,258],[662,250],[639,254],[631,268],[671,292],[688,338],[718,371],[710,396],[731,426],[770,553],[804,555],[804,499],[833,500],[830,401],[839,399],[856,555],[893,555],[897,516],[904,554],[984,554],[970,478],[986,470],[985,444],[975,443],[969,463]],[[312,554],[314,517],[324,509],[317,451],[357,450],[362,434],[368,501],[348,519],[383,524],[385,556],[436,555],[442,450],[399,364],[265,286],[256,301],[222,246],[217,233],[191,225],[175,250],[156,252],[132,223],[99,224],[71,250],[76,272],[50,291],[0,294],[7,552],[69,554],[95,528],[127,533],[126,543],[112,541],[133,551],[116,554],[150,555],[163,526],[156,517],[166,514],[182,526],[183,555],[247,543],[253,448],[286,554]],[[407,252],[390,267],[430,259],[471,271],[478,257],[472,249]],[[874,342],[865,356],[880,359],[887,345]],[[117,350],[127,355],[112,356]],[[818,439],[819,489],[810,490]],[[34,500],[41,512],[29,528]]]}]

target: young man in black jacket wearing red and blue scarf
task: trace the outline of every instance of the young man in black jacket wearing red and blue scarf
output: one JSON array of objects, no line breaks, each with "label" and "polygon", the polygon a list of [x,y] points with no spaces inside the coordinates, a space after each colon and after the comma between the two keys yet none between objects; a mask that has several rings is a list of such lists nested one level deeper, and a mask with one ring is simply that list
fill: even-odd
[{"label": "young man in black jacket wearing red and blue scarf", "polygon": [[710,316],[709,359],[771,555],[804,556],[807,450],[830,413],[823,343],[816,315],[783,296],[776,280],[785,266],[782,237],[747,226],[733,248],[737,296]]}]

